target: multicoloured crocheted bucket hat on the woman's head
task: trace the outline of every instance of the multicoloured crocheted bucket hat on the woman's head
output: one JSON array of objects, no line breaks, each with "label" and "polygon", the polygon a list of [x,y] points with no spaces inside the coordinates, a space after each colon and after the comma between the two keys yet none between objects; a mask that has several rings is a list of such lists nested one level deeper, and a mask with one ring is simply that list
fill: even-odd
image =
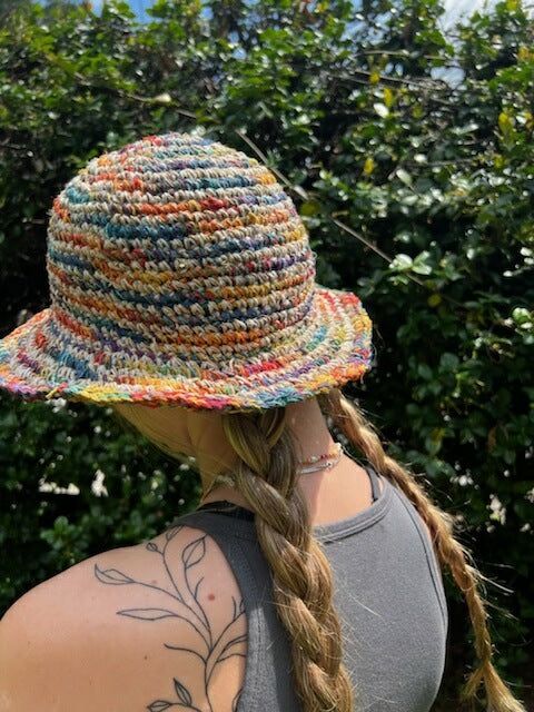
[{"label": "multicoloured crocheted bucket hat on the woman's head", "polygon": [[298,212],[255,158],[146,136],[91,159],[53,200],[51,305],[0,340],[24,399],[249,411],[370,367],[360,299],[315,283]]}]

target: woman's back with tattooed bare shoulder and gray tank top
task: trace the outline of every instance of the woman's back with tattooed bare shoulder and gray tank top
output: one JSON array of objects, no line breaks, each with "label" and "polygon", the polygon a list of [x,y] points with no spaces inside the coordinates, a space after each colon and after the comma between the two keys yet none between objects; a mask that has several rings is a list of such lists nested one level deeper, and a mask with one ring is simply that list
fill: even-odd
[{"label": "woman's back with tattooed bare shoulder and gray tank top", "polygon": [[[333,570],[355,712],[428,712],[447,631],[439,570],[413,505],[366,469],[373,505],[314,527]],[[29,712],[36,695],[56,712],[301,709],[270,568],[243,507],[229,515],[210,503],[148,542],[71,566],[19,599],[2,631],[12,641],[0,644],[2,712]]]}]

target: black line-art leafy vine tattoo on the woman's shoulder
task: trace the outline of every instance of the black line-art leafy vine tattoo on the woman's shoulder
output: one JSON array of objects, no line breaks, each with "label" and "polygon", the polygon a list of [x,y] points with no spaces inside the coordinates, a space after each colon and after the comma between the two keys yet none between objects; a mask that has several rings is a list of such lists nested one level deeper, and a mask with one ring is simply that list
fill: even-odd
[{"label": "black line-art leafy vine tattoo on the woman's shoulder", "polygon": [[[209,700],[209,682],[214,673],[215,666],[228,657],[238,655],[246,657],[246,640],[247,635],[243,634],[243,616],[245,616],[245,606],[243,599],[239,603],[233,599],[234,611],[230,622],[225,626],[220,635],[216,639],[212,634],[210,623],[206,616],[205,611],[198,601],[198,591],[204,576],[198,580],[197,584],[192,589],[190,582],[191,570],[194,566],[202,561],[206,554],[206,534],[199,536],[195,541],[190,542],[184,547],[181,552],[182,571],[180,572],[180,580],[172,574],[168,557],[167,547],[169,542],[178,534],[184,526],[174,526],[165,532],[165,545],[159,548],[155,542],[148,542],[146,548],[149,552],[154,552],[161,557],[161,563],[165,567],[166,574],[169,578],[169,587],[161,587],[155,584],[145,583],[142,581],[136,581],[131,576],[118,571],[117,568],[101,570],[95,564],[95,576],[101,583],[106,583],[113,586],[128,586],[137,585],[148,589],[155,589],[166,596],[168,604],[166,607],[147,607],[147,609],[125,609],[117,611],[118,615],[125,615],[139,621],[161,621],[164,619],[181,619],[188,625],[190,625],[196,632],[197,644],[195,649],[181,647],[171,643],[165,643],[165,647],[168,650],[186,651],[191,655],[199,657],[204,662],[204,688],[206,699],[208,701],[208,709],[212,712],[211,702]],[[195,712],[202,712],[199,708],[195,706],[192,696],[189,690],[177,678],[172,679],[174,699],[159,699],[151,702],[147,710],[149,712],[165,712],[170,708],[182,708],[186,710],[192,710]],[[236,694],[231,703],[231,712],[237,712],[239,704],[239,698],[243,689]]]}]

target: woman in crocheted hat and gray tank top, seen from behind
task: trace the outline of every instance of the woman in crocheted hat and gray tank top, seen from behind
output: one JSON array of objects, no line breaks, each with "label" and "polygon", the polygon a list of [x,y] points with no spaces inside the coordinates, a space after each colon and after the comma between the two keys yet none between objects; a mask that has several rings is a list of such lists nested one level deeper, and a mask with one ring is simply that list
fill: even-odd
[{"label": "woman in crocheted hat and gray tank top, seen from behind", "polygon": [[370,319],[315,283],[271,172],[209,138],[147,136],[66,186],[48,237],[52,305],[0,343],[1,387],[111,404],[195,458],[204,495],[11,606],[3,709],[427,712],[443,566],[475,634],[464,696],[484,683],[493,712],[524,710],[451,515],[340,392],[372,365]]}]

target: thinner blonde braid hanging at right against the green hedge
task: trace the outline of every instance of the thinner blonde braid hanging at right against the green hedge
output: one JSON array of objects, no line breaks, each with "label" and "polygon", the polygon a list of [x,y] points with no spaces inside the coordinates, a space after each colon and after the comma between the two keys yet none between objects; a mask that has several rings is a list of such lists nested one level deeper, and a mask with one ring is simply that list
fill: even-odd
[{"label": "thinner blonde braid hanging at right against the green hedge", "polygon": [[479,590],[483,581],[490,581],[475,567],[468,550],[454,537],[454,517],[437,507],[414,476],[389,457],[373,425],[338,388],[319,396],[320,405],[350,443],[364,453],[377,472],[392,481],[417,508],[428,526],[433,544],[442,565],[446,565],[458,589],[465,596],[473,631],[478,665],[469,674],[462,691],[463,700],[473,700],[484,683],[487,709],[491,712],[526,712],[514,698],[496,671],[493,644],[487,627],[488,614]]}]

